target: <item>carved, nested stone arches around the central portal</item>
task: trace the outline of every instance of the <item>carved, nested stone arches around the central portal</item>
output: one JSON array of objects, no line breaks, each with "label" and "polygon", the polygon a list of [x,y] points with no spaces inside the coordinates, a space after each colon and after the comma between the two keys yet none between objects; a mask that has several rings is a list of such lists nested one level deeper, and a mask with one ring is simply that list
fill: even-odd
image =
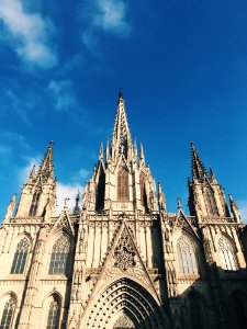
[{"label": "carved, nested stone arches around the central portal", "polygon": [[137,283],[121,279],[109,285],[89,310],[85,328],[113,329],[117,318],[125,314],[135,328],[158,329],[167,319],[151,295]]}]

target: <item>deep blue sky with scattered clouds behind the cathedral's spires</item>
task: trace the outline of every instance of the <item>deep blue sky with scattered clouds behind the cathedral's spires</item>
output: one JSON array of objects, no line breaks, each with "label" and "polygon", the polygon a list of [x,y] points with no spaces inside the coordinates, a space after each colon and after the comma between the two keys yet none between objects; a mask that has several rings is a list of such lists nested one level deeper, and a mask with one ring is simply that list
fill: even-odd
[{"label": "deep blue sky with scattered clouds behind the cathedral's spires", "polygon": [[122,88],[168,211],[188,213],[193,140],[247,220],[246,16],[244,0],[0,0],[0,218],[52,139],[59,200],[82,190]]}]

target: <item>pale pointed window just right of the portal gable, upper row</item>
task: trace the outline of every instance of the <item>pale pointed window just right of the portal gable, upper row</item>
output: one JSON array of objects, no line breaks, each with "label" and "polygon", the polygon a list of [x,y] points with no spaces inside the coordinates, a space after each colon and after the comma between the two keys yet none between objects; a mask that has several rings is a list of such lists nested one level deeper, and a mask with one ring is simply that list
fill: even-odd
[{"label": "pale pointed window just right of the portal gable, upper row", "polygon": [[180,274],[194,274],[198,271],[197,249],[184,235],[177,242],[178,264]]}]

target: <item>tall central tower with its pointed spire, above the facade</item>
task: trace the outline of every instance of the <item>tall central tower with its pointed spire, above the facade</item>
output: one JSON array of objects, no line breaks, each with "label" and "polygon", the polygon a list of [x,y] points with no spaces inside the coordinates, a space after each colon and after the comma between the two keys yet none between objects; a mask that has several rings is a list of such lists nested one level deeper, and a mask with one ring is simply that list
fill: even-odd
[{"label": "tall central tower with its pointed spire, above the facade", "polygon": [[111,145],[100,147],[99,161],[83,195],[85,209],[91,212],[150,213],[158,211],[156,184],[145,163],[143,146],[138,155],[132,143],[125,102],[119,93]]}]

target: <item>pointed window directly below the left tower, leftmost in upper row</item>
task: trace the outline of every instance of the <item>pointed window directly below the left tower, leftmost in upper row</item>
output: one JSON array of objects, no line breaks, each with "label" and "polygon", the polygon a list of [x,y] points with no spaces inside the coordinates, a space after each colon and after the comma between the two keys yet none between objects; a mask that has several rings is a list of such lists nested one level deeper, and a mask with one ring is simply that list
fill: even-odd
[{"label": "pointed window directly below the left tower, leftmost in upper row", "polygon": [[14,253],[11,274],[22,274],[24,272],[26,258],[29,253],[30,242],[26,238],[23,238],[19,243]]}]

